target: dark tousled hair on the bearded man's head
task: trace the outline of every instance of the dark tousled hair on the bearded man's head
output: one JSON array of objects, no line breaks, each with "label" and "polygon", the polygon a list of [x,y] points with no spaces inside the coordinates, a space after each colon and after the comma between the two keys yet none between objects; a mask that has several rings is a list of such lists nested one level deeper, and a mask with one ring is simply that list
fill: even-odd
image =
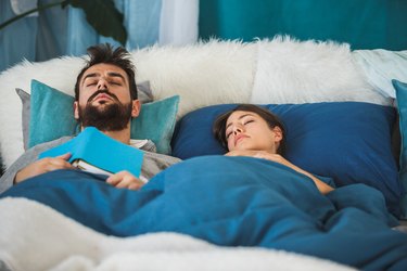
[{"label": "dark tousled hair on the bearded man's head", "polygon": [[123,70],[128,76],[130,96],[132,100],[137,100],[137,86],[136,86],[136,67],[131,62],[130,53],[123,47],[118,47],[113,50],[113,47],[110,43],[98,44],[88,48],[89,60],[86,62],[85,67],[80,70],[79,75],[76,78],[75,83],[75,100],[79,100],[79,85],[85,72],[93,65],[97,64],[112,64]]}]

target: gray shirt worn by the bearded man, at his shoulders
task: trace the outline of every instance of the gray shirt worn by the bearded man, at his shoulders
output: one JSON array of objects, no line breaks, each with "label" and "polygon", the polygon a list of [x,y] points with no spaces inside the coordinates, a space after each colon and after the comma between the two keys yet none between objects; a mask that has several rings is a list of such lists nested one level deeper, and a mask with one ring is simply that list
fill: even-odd
[{"label": "gray shirt worn by the bearded man, at his shoulders", "polygon": [[[61,145],[71,139],[73,139],[73,137],[63,137],[54,141],[38,144],[25,152],[5,170],[4,175],[0,178],[0,194],[13,185],[15,175],[21,169],[36,162],[40,153]],[[140,146],[140,150],[144,152],[141,176],[147,180],[150,180],[167,167],[181,162],[179,158],[155,153],[155,145],[151,141],[148,141],[145,144]]]}]

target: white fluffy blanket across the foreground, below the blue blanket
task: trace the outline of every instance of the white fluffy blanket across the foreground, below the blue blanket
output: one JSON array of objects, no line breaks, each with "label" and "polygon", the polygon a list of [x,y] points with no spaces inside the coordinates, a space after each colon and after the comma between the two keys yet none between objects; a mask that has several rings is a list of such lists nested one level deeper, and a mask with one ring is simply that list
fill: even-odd
[{"label": "white fluffy blanket across the foreground, below the blue blanket", "polygon": [[0,260],[12,270],[353,270],[315,257],[220,247],[177,233],[106,236],[25,198],[0,201]]}]

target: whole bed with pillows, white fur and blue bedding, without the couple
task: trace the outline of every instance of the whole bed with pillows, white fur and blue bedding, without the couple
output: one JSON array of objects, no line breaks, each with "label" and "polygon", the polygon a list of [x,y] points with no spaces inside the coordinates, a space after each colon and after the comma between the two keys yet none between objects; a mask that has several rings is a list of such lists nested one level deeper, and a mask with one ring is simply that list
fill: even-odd
[{"label": "whole bed with pillows, white fur and blue bedding, without the couple", "polygon": [[[138,192],[60,170],[4,192],[0,269],[406,269],[406,51],[276,37],[131,53],[144,102],[133,137],[183,162]],[[80,66],[62,57],[0,75],[4,167],[75,132]],[[211,127],[237,103],[278,114],[287,158],[335,191],[322,196],[275,163],[222,156]]]}]

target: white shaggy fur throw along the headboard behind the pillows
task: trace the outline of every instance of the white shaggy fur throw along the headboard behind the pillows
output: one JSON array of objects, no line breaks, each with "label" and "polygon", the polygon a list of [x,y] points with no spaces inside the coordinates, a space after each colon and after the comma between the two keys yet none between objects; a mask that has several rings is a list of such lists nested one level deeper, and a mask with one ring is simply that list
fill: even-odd
[{"label": "white shaggy fur throw along the headboard behind the pillows", "polygon": [[[206,105],[251,99],[254,103],[386,102],[357,74],[347,46],[289,38],[249,43],[212,40],[131,53],[137,80],[150,81],[154,100],[180,95],[178,118]],[[5,167],[24,152],[22,104],[15,88],[30,92],[30,80],[37,79],[73,94],[82,65],[81,57],[25,61],[0,74],[0,153]]]}]

